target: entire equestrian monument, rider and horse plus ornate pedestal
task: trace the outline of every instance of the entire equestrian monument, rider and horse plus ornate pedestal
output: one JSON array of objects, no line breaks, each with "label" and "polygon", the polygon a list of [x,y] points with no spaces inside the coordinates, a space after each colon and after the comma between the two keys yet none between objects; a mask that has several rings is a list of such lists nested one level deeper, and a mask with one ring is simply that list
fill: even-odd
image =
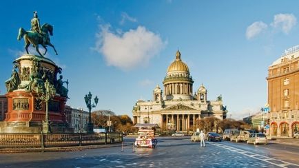
[{"label": "entire equestrian monument, rider and horse plus ornate pedestal", "polygon": [[[48,23],[40,27],[37,12],[34,12],[31,25],[30,31],[23,28],[19,30],[18,40],[24,38],[27,54],[13,61],[12,75],[5,83],[8,92],[5,122],[10,128],[1,129],[1,132],[41,132],[43,125],[49,125],[42,123],[49,123],[49,120],[51,124],[59,125],[59,130],[65,130],[61,127],[68,125],[65,119],[68,80],[62,81],[62,75],[57,78],[57,74],[61,74],[61,67],[39,52],[39,45],[45,48],[45,53],[46,45],[54,48],[49,38],[49,34],[53,34],[53,27]],[[38,55],[29,54],[30,43],[34,45]],[[54,51],[57,54],[55,48]],[[67,87],[64,87],[63,83],[66,83]],[[47,127],[44,127],[44,132],[50,132],[50,125]]]}]

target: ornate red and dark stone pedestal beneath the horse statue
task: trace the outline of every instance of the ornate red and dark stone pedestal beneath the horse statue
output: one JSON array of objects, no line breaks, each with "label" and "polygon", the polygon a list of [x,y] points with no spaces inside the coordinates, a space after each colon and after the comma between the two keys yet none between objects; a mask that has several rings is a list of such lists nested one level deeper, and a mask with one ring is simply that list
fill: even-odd
[{"label": "ornate red and dark stone pedestal beneath the horse statue", "polygon": [[[13,63],[12,77],[6,81],[8,112],[0,132],[47,133],[50,127],[52,132],[69,132],[65,118],[67,89],[61,79],[56,79],[61,68],[50,59],[30,54],[24,54]],[[49,92],[45,81],[50,83],[53,95],[48,101],[48,124],[43,122],[47,112],[44,94]]]}]

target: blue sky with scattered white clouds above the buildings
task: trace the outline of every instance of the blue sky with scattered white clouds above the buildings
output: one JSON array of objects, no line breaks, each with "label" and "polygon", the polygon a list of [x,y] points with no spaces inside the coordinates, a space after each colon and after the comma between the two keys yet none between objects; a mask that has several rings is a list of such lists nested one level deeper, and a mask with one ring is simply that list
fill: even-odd
[{"label": "blue sky with scattered white clouds above the buildings", "polygon": [[[24,53],[19,28],[30,30],[33,11],[54,25],[45,57],[70,82],[67,105],[87,110],[84,96],[99,97],[93,110],[132,116],[138,99],[163,88],[177,50],[194,91],[220,94],[228,117],[255,114],[267,103],[267,68],[299,39],[299,1],[3,1],[0,6],[0,94],[12,61]],[[30,53],[35,54],[30,48]]]}]

